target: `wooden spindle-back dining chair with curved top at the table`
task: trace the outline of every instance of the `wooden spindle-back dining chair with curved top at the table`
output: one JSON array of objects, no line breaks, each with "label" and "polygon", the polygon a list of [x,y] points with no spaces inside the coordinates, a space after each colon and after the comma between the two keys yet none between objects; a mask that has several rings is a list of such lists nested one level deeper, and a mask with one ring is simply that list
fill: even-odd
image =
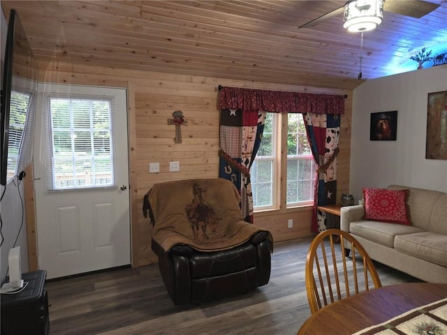
[{"label": "wooden spindle-back dining chair with curved top at the table", "polygon": [[[351,259],[344,256],[350,244]],[[306,290],[311,313],[369,288],[380,288],[374,264],[362,245],[339,229],[328,229],[312,241],[306,260]]]}]

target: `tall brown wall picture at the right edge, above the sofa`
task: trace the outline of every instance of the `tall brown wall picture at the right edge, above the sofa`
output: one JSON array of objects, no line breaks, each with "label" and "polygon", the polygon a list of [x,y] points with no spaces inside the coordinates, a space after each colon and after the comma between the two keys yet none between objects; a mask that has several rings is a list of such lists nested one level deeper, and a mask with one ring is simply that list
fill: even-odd
[{"label": "tall brown wall picture at the right edge, above the sofa", "polygon": [[428,94],[425,158],[447,159],[447,91]]}]

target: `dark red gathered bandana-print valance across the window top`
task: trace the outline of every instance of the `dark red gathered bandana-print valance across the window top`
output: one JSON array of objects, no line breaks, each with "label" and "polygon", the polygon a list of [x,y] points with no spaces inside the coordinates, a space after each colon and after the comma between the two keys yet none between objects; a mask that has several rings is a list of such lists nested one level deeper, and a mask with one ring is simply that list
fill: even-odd
[{"label": "dark red gathered bandana-print valance across the window top", "polygon": [[330,94],[219,87],[219,107],[316,114],[344,114],[344,97]]}]

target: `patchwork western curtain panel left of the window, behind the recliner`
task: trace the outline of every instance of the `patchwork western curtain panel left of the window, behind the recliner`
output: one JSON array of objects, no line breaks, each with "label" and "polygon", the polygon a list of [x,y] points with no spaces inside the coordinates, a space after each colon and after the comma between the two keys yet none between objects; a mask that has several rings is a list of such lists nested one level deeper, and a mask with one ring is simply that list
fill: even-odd
[{"label": "patchwork western curtain panel left of the window, behind the recliner", "polygon": [[240,190],[244,220],[253,223],[250,168],[261,144],[267,112],[221,110],[219,177]]}]

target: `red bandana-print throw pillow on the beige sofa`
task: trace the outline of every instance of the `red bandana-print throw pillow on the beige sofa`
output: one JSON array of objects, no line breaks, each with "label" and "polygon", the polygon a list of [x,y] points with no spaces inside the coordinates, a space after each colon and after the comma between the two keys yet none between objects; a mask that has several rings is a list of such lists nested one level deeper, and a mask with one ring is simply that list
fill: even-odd
[{"label": "red bandana-print throw pillow on the beige sofa", "polygon": [[406,199],[409,190],[363,188],[365,220],[411,225]]}]

